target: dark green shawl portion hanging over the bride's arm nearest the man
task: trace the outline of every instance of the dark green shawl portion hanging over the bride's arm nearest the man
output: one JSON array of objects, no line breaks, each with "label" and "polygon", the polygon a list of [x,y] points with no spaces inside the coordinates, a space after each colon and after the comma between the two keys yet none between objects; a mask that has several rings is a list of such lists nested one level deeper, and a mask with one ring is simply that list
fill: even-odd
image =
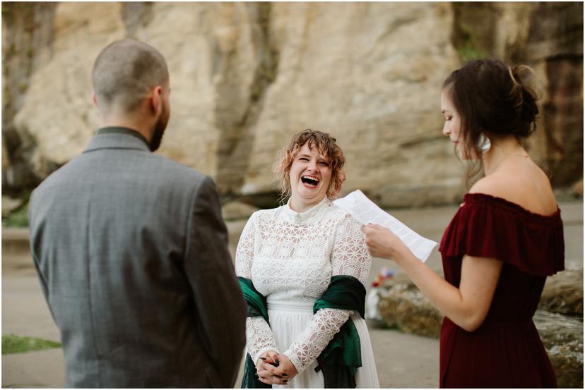
[{"label": "dark green shawl portion hanging over the bride's arm nearest the man", "polygon": [[[262,317],[268,322],[268,310],[266,309],[266,298],[259,293],[252,281],[242,276],[238,276],[240,288],[244,294],[244,299],[248,304],[248,317]],[[270,324],[270,322],[268,322]],[[252,361],[249,353],[246,353],[246,362],[244,364],[244,377],[242,378],[242,389],[270,389],[272,386],[260,382],[256,377],[256,365]]]}]

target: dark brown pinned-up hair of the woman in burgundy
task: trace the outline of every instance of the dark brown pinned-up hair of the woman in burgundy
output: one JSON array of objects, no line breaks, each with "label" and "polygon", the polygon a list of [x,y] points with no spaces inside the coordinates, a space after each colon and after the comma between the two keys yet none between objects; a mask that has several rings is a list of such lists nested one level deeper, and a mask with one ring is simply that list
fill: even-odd
[{"label": "dark brown pinned-up hair of the woman in burgundy", "polygon": [[499,59],[479,59],[457,69],[443,83],[461,117],[462,147],[478,162],[467,173],[467,183],[483,169],[480,135],[526,138],[536,130],[535,92],[528,86],[533,74],[525,65],[507,66]]}]

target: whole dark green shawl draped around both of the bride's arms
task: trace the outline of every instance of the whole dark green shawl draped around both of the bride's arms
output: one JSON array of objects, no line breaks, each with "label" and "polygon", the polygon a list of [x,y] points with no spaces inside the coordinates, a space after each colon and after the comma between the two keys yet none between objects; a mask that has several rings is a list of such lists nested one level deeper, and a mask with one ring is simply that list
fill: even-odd
[{"label": "whole dark green shawl draped around both of the bride's arms", "polygon": [[[268,322],[266,298],[262,296],[250,279],[238,277],[244,298],[248,303],[248,317],[262,316]],[[364,317],[365,287],[353,276],[336,275],[321,298],[315,302],[313,313],[319,309],[353,310]],[[268,322],[270,324],[270,322]],[[323,371],[325,388],[355,388],[355,372],[362,366],[360,336],[355,325],[348,319],[339,332],[329,341],[317,358],[319,366],[315,371]],[[249,354],[246,356],[242,388],[268,388],[256,378],[256,366]]]}]

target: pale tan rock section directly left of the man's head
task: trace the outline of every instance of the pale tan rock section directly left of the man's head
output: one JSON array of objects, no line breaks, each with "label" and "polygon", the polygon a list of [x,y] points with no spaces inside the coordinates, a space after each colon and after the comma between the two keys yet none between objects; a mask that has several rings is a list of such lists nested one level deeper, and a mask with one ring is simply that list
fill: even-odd
[{"label": "pale tan rock section directly left of the man's head", "polygon": [[[54,54],[32,75],[15,118],[32,137],[32,164],[47,176],[47,162],[64,164],[80,154],[95,130],[91,68],[101,49],[124,37],[117,3],[60,3],[54,16]],[[42,48],[41,48],[42,49]]]}]

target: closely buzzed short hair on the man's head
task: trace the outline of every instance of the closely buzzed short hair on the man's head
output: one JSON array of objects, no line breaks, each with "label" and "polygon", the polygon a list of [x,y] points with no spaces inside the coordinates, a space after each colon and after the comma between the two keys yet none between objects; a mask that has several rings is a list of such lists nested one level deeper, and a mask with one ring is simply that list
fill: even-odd
[{"label": "closely buzzed short hair on the man's head", "polygon": [[165,85],[168,80],[165,57],[136,39],[112,42],[93,64],[93,90],[98,104],[107,110],[134,111],[151,87]]}]

